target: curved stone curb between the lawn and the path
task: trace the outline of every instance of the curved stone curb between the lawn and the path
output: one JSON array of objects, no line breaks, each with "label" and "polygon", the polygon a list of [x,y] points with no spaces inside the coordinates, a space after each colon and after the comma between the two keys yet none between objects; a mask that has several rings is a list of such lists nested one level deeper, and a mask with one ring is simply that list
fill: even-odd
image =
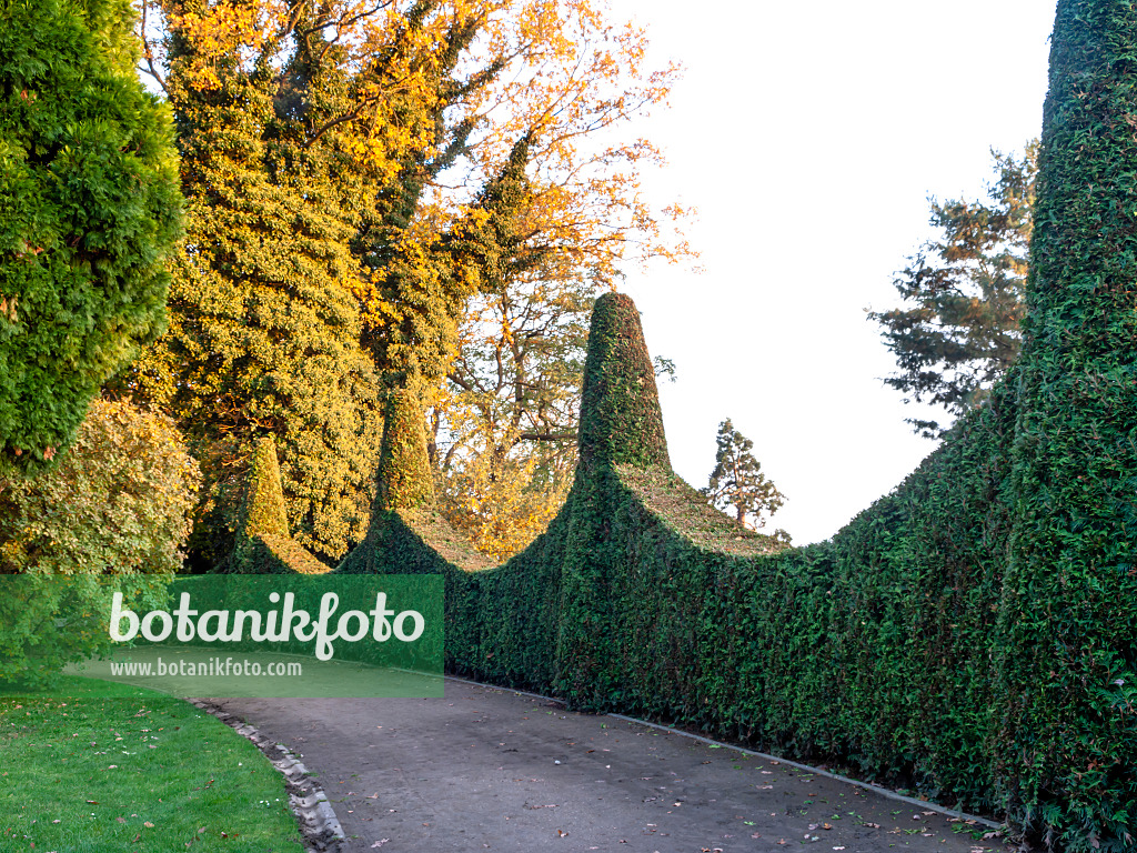
[{"label": "curved stone curb between the lawn and the path", "polygon": [[213,714],[238,735],[250,740],[281,772],[289,795],[289,805],[300,826],[300,835],[304,836],[305,848],[309,853],[338,853],[346,838],[343,827],[340,826],[332,804],[327,801],[327,794],[304,763],[287,746],[269,740],[256,727],[229,713],[222,706],[205,699],[190,699],[190,704]]}]

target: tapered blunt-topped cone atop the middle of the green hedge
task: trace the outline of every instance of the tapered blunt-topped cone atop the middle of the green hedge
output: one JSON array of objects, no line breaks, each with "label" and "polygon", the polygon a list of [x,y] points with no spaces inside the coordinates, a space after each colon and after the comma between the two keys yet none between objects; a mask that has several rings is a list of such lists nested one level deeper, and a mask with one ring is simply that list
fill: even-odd
[{"label": "tapered blunt-topped cone atop the middle of the green hedge", "polygon": [[623,293],[603,295],[592,309],[579,442],[586,471],[671,467],[655,368],[639,312]]}]

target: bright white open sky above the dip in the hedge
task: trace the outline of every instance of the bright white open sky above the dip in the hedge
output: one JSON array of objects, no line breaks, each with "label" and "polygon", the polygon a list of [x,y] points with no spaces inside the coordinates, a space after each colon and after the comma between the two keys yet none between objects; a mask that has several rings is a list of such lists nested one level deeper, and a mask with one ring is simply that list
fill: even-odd
[{"label": "bright white open sky above the dip in the hedge", "polygon": [[[767,530],[825,539],[935,447],[880,381],[864,309],[928,239],[928,196],[978,198],[989,148],[1041,126],[1055,0],[612,0],[686,66],[637,132],[667,152],[662,202],[699,208],[702,275],[629,272],[663,384],[675,470],[705,486],[719,422],[789,498]],[[943,421],[943,417],[940,419]]]}]

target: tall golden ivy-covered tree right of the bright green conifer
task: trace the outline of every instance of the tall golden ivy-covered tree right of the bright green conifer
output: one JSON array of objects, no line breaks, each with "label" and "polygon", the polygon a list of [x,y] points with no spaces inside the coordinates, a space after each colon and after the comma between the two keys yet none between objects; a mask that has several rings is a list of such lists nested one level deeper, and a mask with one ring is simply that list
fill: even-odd
[{"label": "tall golden ivy-covered tree right of the bright green conifer", "polygon": [[171,330],[126,384],[168,406],[202,461],[194,545],[210,562],[231,547],[258,437],[279,441],[292,535],[327,557],[365,532],[379,447],[350,243],[383,168],[370,146],[382,142],[349,132],[376,96],[352,89],[321,27],[334,22],[309,5],[288,11],[167,8],[189,235]]}]

